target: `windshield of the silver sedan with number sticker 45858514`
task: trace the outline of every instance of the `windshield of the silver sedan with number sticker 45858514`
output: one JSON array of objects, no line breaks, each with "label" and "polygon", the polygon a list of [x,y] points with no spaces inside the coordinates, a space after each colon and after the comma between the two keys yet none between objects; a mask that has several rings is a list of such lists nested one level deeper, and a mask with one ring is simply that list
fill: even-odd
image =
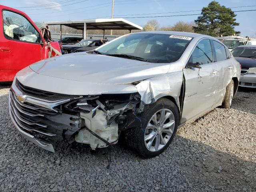
[{"label": "windshield of the silver sedan with number sticker 45858514", "polygon": [[108,42],[97,52],[152,63],[170,63],[180,58],[191,40],[191,37],[170,34],[133,33]]}]

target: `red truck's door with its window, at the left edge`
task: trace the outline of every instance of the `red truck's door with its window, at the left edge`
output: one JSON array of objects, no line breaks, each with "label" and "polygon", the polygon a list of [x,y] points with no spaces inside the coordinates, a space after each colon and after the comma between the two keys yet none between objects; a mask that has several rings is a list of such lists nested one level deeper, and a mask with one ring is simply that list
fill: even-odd
[{"label": "red truck's door with its window, at the left edge", "polygon": [[2,11],[0,81],[12,81],[22,68],[41,60],[40,34],[21,14]]}]

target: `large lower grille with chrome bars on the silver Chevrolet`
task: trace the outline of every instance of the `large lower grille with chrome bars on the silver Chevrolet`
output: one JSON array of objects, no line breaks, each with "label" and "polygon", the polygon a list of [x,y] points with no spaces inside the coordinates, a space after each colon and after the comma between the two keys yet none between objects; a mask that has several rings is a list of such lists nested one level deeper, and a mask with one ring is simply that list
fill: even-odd
[{"label": "large lower grille with chrome bars on the silver Chevrolet", "polygon": [[58,113],[26,102],[22,103],[17,100],[12,91],[10,91],[10,110],[12,117],[21,129],[38,132],[46,136],[56,136],[56,134],[44,130],[47,125],[43,123],[43,118]]}]

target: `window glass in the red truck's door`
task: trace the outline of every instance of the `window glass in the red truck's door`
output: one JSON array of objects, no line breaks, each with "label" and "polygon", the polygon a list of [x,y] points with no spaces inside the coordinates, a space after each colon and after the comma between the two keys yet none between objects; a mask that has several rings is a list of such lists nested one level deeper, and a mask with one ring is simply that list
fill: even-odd
[{"label": "window glass in the red truck's door", "polygon": [[4,10],[4,36],[11,40],[39,42],[40,34],[22,15]]}]

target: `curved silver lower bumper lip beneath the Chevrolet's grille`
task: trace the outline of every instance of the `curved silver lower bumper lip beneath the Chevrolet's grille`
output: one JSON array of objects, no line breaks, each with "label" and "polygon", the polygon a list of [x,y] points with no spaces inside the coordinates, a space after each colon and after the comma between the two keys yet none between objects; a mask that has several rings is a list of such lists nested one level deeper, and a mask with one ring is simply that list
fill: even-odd
[{"label": "curved silver lower bumper lip beneath the Chevrolet's grille", "polygon": [[27,132],[23,131],[22,129],[19,128],[19,126],[16,124],[13,116],[12,116],[12,112],[11,112],[11,103],[10,103],[10,94],[9,94],[9,114],[10,114],[10,118],[12,120],[12,123],[14,124],[14,126],[16,127],[16,129],[18,130],[18,132],[27,140],[30,140],[31,142],[33,142],[34,144],[40,146],[41,148],[48,150],[50,152],[55,152],[54,148],[52,146],[52,144],[46,143],[38,138],[35,138],[34,136],[28,134]]}]

